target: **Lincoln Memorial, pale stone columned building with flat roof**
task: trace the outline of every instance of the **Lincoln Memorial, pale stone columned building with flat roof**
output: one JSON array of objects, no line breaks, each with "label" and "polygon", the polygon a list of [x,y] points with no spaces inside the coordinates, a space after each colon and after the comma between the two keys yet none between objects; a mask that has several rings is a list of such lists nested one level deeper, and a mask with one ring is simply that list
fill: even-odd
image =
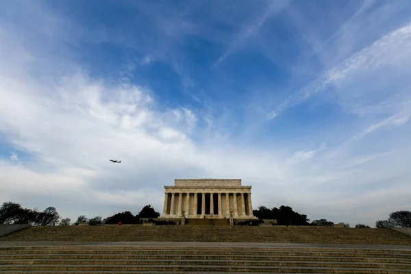
[{"label": "Lincoln Memorial, pale stone columned building with flat roof", "polygon": [[175,179],[164,189],[161,219],[257,219],[251,186],[241,186],[241,179]]}]

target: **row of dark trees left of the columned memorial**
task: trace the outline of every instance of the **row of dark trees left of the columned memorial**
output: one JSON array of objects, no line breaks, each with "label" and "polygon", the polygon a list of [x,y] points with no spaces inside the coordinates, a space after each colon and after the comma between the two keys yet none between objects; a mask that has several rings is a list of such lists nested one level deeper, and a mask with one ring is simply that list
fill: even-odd
[{"label": "row of dark trees left of the columned memorial", "polygon": [[117,213],[105,219],[102,216],[88,219],[85,215],[81,215],[77,217],[77,221],[71,223],[70,218],[62,219],[53,207],[39,211],[37,208],[23,208],[20,204],[11,201],[2,203],[0,207],[0,224],[78,225],[82,222],[87,222],[88,225],[117,224],[119,222],[122,224],[138,224],[142,222],[140,218],[156,219],[159,216],[159,212],[147,205],[136,215],[129,211]]}]

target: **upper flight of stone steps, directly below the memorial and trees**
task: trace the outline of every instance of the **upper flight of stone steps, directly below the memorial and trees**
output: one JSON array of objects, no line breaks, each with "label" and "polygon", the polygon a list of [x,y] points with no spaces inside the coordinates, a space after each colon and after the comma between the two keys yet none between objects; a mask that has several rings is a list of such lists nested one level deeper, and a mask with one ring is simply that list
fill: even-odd
[{"label": "upper flight of stone steps, directly below the memorial and trees", "polygon": [[246,227],[201,225],[38,226],[0,237],[0,241],[169,241],[287,242],[411,245],[411,236],[393,229],[332,227]]}]

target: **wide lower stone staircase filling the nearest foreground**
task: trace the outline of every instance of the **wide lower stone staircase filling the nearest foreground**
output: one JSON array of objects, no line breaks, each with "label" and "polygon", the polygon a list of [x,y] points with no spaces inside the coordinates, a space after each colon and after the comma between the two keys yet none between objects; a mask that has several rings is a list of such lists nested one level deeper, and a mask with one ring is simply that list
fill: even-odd
[{"label": "wide lower stone staircase filling the nearest foreground", "polygon": [[0,247],[0,273],[411,273],[411,250],[314,247]]}]

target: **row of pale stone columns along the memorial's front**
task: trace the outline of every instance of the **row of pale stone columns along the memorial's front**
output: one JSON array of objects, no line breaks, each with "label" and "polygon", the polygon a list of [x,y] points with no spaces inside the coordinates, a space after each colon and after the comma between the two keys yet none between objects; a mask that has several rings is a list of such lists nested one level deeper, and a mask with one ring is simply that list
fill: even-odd
[{"label": "row of pale stone columns along the memorial's front", "polygon": [[[169,194],[171,194],[171,201],[170,201],[170,209],[169,209]],[[183,208],[182,208],[182,198],[183,198],[183,194],[184,192],[179,192],[179,193],[175,193],[175,192],[170,192],[170,193],[165,193],[165,197],[164,197],[164,207],[163,207],[163,215],[168,215],[171,214],[173,215],[174,212],[174,205],[175,205],[175,194],[178,194],[178,203],[177,203],[177,216],[182,214]],[[188,212],[190,212],[190,194],[191,193],[185,193],[186,194],[186,202],[185,202],[185,208],[184,211],[186,212],[186,214],[188,214]],[[197,192],[194,193],[194,201],[193,201],[193,211],[195,215],[198,215],[198,196],[197,196]],[[218,215],[219,216],[223,216],[222,213],[222,199],[221,199],[221,195],[222,193],[219,192],[218,194],[218,201],[217,201],[217,206],[218,206]],[[229,204],[229,196],[232,195],[233,199],[234,199],[234,208],[232,208],[233,210],[233,215],[234,216],[252,216],[253,215],[253,206],[251,203],[251,193],[243,193],[241,192],[241,212],[238,212],[238,204],[237,204],[237,193],[223,193],[225,194],[225,212],[227,214],[227,216],[229,216],[229,212],[230,212],[230,204]],[[248,214],[246,214],[246,210],[245,210],[245,194],[247,194],[247,206],[248,206]],[[170,213],[168,213],[170,212]],[[210,212],[212,214],[214,214],[214,193],[210,193]],[[206,193],[202,192],[201,193],[201,215],[205,215],[206,214]]]}]

